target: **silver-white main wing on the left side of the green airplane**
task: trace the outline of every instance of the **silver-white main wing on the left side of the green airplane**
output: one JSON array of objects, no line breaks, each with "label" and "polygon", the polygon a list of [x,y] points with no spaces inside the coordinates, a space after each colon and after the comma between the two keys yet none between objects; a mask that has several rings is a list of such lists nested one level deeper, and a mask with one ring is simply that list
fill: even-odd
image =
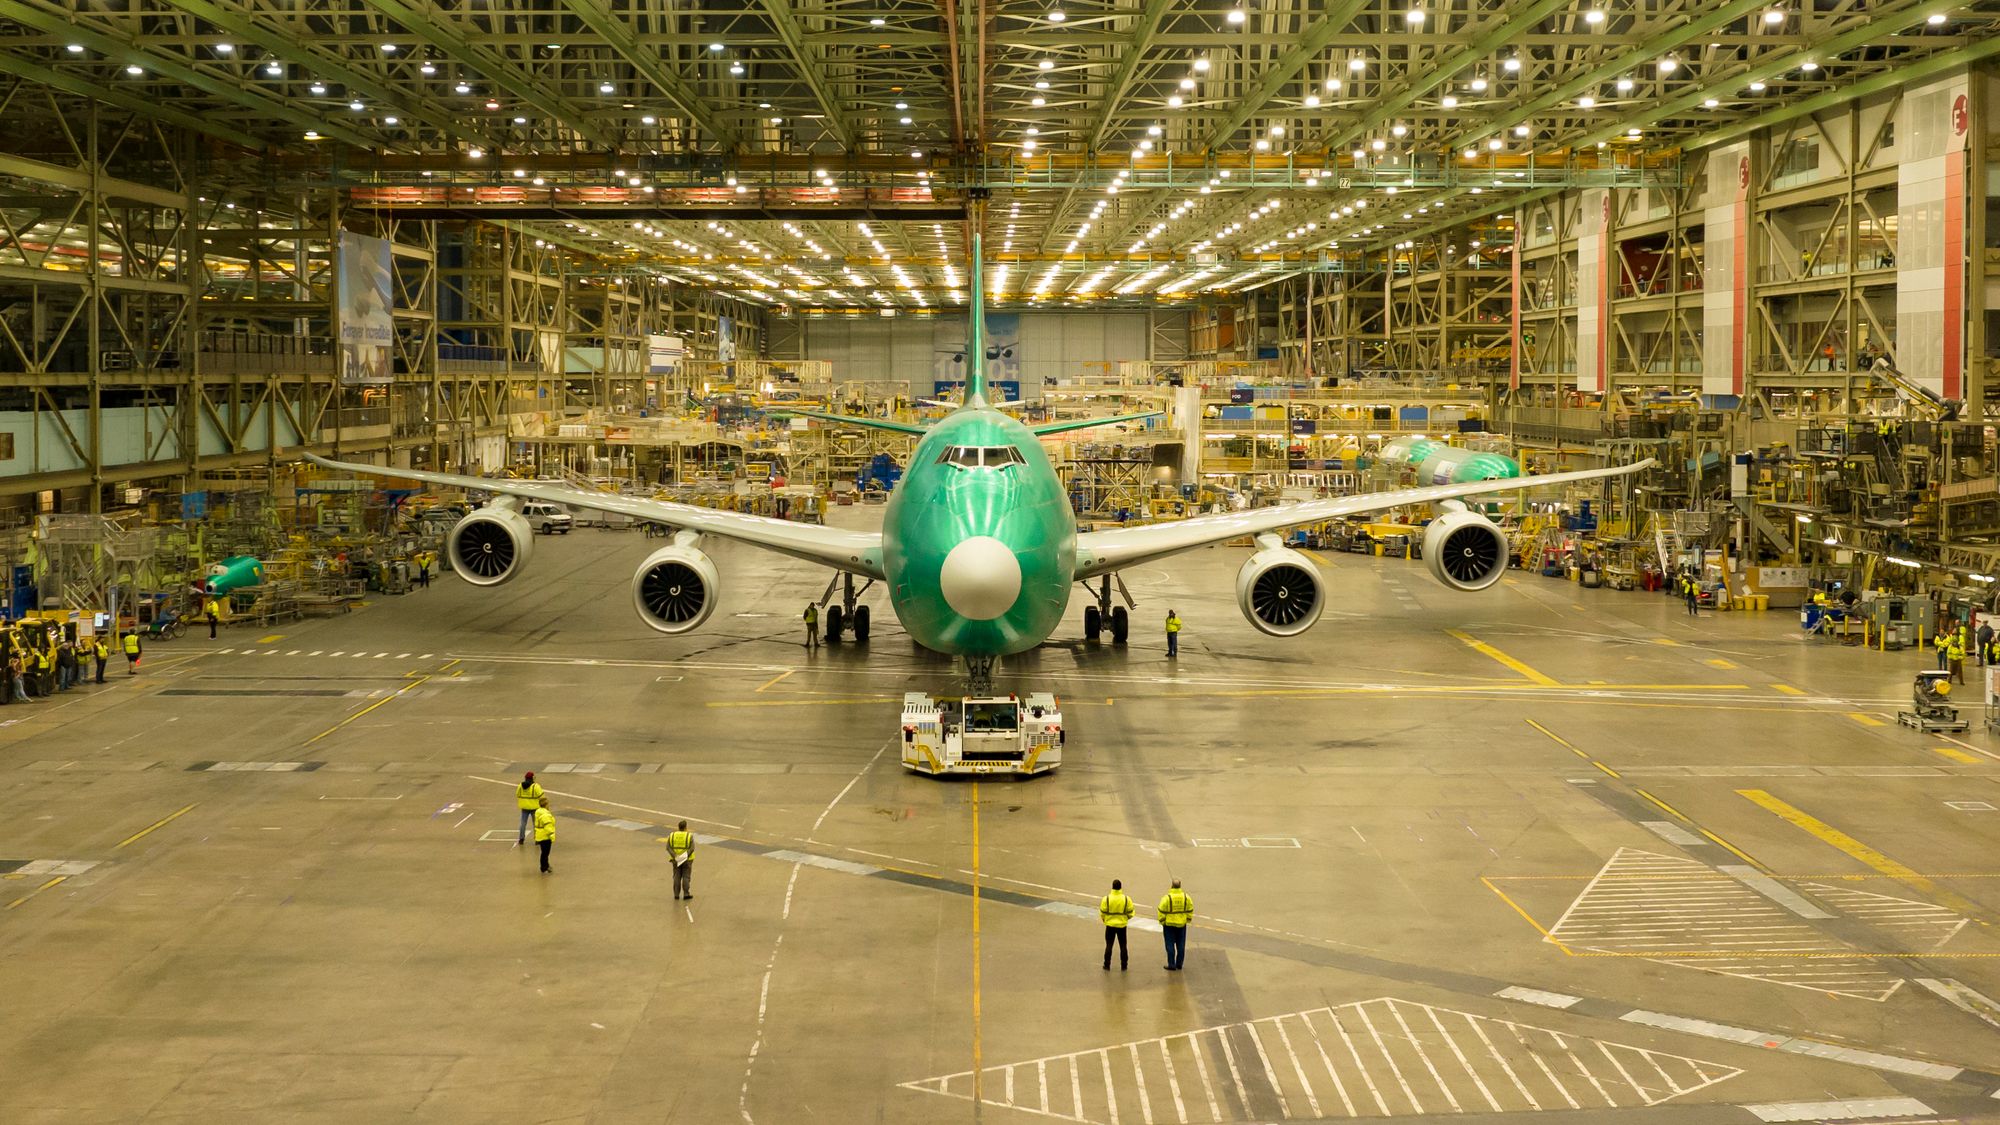
[{"label": "silver-white main wing on the left side of the green airplane", "polygon": [[488,480],[484,476],[458,476],[452,472],[426,472],[420,468],[348,464],[344,460],[312,456],[310,452],[306,454],[306,460],[322,468],[342,468],[364,476],[394,476],[398,480],[422,480],[426,484],[444,484],[448,488],[472,488],[480,492],[500,492],[502,496],[520,496],[524,500],[548,500],[552,504],[574,504],[578,508],[592,508],[598,512],[618,512],[672,528],[714,534],[716,538],[734,538],[736,542],[748,542],[752,546],[762,546],[764,550],[804,558],[806,562],[848,571],[850,575],[864,575],[870,579],[884,577],[882,534],[872,530],[842,530],[820,524],[774,520],[768,516],[748,516],[742,512],[722,512],[694,504],[674,504],[670,500],[586,492],[582,488],[564,488],[562,484],[542,484],[538,480]]}]

